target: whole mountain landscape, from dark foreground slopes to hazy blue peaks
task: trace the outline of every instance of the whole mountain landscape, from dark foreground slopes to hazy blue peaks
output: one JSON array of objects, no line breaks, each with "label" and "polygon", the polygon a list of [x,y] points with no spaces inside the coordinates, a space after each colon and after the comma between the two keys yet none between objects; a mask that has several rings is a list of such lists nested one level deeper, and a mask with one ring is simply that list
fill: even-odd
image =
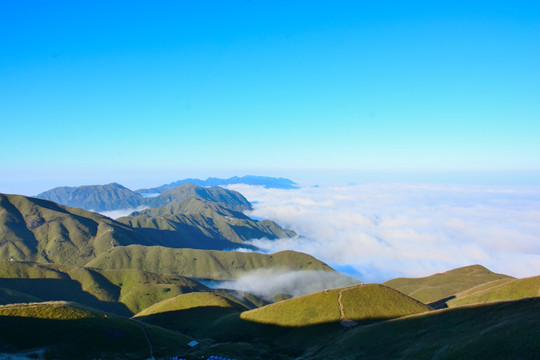
[{"label": "whole mountain landscape, from dark foreground slopes to hazy blue peaks", "polygon": [[[247,176],[0,194],[0,358],[538,358],[540,276],[470,265],[364,284],[309,254],[257,252],[245,242],[302,234],[245,215],[252,204],[218,187],[234,183],[297,186]],[[219,286],[270,270],[332,282],[296,297]]]}]

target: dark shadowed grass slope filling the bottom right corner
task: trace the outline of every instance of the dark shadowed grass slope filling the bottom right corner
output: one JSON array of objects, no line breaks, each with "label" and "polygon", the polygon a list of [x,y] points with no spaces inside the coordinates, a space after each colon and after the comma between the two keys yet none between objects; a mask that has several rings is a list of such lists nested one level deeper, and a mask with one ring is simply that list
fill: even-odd
[{"label": "dark shadowed grass slope filling the bottom right corner", "polygon": [[438,310],[349,329],[302,359],[537,359],[540,299]]}]

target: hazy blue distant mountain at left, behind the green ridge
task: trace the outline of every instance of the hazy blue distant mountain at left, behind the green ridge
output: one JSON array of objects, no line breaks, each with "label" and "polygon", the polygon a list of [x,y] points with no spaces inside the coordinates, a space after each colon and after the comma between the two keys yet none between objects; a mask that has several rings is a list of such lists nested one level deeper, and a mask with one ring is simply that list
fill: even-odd
[{"label": "hazy blue distant mountain at left, behind the green ridge", "polygon": [[144,201],[141,195],[117,183],[57,187],[36,197],[92,211],[131,209],[140,206]]}]

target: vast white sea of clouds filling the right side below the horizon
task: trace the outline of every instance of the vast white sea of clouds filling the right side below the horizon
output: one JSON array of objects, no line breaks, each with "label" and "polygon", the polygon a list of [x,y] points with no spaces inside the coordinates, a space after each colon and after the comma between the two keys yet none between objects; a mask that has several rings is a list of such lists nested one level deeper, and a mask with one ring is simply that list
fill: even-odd
[{"label": "vast white sea of clouds filling the right side below the horizon", "polygon": [[252,245],[309,253],[362,281],[427,276],[471,264],[516,277],[540,274],[538,187],[229,188],[255,202],[248,215],[301,235],[255,239]]}]

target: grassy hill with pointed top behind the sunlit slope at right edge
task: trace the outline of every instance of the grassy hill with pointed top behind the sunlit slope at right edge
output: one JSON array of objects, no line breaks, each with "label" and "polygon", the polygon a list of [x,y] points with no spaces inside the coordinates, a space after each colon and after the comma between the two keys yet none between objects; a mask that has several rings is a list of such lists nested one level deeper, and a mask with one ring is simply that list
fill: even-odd
[{"label": "grassy hill with pointed top behind the sunlit slope at right edge", "polygon": [[496,274],[481,265],[471,265],[423,278],[397,278],[384,285],[427,304],[480,284],[508,278],[511,277]]}]

